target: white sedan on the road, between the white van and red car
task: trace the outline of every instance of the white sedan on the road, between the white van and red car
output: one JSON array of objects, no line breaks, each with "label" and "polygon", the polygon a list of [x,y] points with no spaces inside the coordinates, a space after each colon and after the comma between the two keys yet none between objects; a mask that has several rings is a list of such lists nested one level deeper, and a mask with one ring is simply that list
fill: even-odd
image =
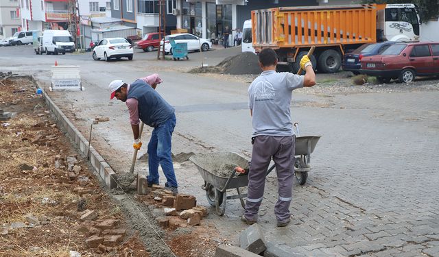
[{"label": "white sedan on the road, between the white van and red car", "polygon": [[99,41],[99,44],[93,49],[93,59],[106,61],[110,58],[119,60],[122,57],[132,60],[134,50],[132,45],[125,38],[104,38]]}]

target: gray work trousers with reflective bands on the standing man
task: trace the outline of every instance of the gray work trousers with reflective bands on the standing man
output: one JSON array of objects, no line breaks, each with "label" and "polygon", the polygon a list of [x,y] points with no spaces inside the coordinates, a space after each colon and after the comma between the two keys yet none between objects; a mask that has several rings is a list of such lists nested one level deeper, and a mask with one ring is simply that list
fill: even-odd
[{"label": "gray work trousers with reflective bands on the standing man", "polygon": [[289,204],[292,200],[294,176],[294,150],[296,136],[257,136],[254,138],[252,161],[248,173],[248,195],[244,216],[250,221],[258,218],[259,206],[263,199],[265,174],[270,161],[276,164],[278,180],[278,200],[274,214],[278,221],[290,217]]}]

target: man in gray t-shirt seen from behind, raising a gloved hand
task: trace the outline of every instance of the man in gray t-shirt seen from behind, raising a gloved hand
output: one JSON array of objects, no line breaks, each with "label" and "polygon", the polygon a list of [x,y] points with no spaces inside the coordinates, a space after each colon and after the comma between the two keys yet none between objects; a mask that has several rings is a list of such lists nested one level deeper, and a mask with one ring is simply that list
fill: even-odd
[{"label": "man in gray t-shirt seen from behind, raising a gloved hand", "polygon": [[246,208],[241,220],[249,225],[257,222],[265,173],[272,159],[278,178],[278,201],[274,206],[277,226],[286,226],[290,221],[296,145],[290,113],[292,90],[316,84],[316,74],[308,56],[300,60],[305,75],[277,73],[276,64],[276,52],[270,48],[263,49],[259,53],[259,66],[263,72],[248,88],[253,147]]}]

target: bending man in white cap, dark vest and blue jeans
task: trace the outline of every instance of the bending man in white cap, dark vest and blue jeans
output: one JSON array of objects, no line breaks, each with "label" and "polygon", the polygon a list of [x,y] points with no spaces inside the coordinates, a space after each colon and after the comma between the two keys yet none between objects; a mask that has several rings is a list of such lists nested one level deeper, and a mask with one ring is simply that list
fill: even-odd
[{"label": "bending man in white cap, dark vest and blue jeans", "polygon": [[171,137],[176,126],[175,110],[156,92],[157,84],[162,79],[158,74],[141,77],[131,84],[126,84],[120,79],[112,81],[108,85],[111,97],[126,103],[130,112],[130,123],[134,136],[134,149],[141,149],[142,142],[139,138],[139,120],[154,127],[147,146],[148,168],[150,175],[147,176],[148,186],[158,184],[158,165],[162,167],[167,179],[165,189],[172,193],[178,193],[178,184],[174,172],[174,164],[171,158]]}]

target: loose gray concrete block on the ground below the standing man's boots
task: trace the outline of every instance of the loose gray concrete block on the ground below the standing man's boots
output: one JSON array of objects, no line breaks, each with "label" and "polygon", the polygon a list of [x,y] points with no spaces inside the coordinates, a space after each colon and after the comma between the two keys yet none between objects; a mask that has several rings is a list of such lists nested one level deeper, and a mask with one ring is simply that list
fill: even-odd
[{"label": "loose gray concrete block on the ground below the standing man's boots", "polygon": [[254,254],[261,254],[267,249],[262,228],[257,223],[250,225],[239,236],[239,245]]}]

